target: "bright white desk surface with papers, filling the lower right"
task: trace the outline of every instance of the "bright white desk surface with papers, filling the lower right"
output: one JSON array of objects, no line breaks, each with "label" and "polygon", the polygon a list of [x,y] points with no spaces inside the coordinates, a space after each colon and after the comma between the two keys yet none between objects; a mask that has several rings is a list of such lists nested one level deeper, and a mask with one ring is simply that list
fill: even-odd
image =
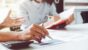
[{"label": "bright white desk surface with papers, filling the lower right", "polygon": [[[29,48],[19,50],[88,50],[88,27],[85,27],[87,25],[69,25],[66,27],[67,30],[49,30],[54,40],[48,38],[43,40],[49,44],[31,44]],[[0,46],[0,50],[1,48],[3,47]]]}]

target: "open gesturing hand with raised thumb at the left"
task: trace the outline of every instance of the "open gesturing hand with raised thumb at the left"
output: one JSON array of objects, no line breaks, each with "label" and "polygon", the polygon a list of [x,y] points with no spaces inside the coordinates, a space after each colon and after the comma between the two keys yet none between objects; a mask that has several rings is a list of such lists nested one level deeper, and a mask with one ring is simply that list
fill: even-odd
[{"label": "open gesturing hand with raised thumb at the left", "polygon": [[10,15],[11,10],[9,11],[4,22],[2,23],[5,27],[20,26],[24,22],[24,19],[22,17],[17,19],[11,19]]}]

